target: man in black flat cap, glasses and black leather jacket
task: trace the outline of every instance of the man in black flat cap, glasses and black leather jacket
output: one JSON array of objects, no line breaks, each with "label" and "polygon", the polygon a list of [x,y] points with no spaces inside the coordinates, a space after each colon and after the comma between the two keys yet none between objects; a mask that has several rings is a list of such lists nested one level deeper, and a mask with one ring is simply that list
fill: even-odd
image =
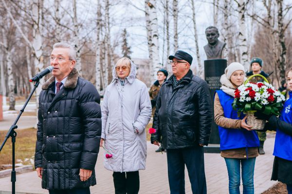
[{"label": "man in black flat cap, glasses and black leather jacket", "polygon": [[[167,150],[168,182],[171,194],[183,194],[184,165],[193,194],[206,194],[203,146],[211,132],[211,98],[207,83],[193,75],[193,57],[177,51],[168,57],[173,75],[157,96],[151,143],[163,143]],[[161,139],[162,136],[162,139]]]}]

